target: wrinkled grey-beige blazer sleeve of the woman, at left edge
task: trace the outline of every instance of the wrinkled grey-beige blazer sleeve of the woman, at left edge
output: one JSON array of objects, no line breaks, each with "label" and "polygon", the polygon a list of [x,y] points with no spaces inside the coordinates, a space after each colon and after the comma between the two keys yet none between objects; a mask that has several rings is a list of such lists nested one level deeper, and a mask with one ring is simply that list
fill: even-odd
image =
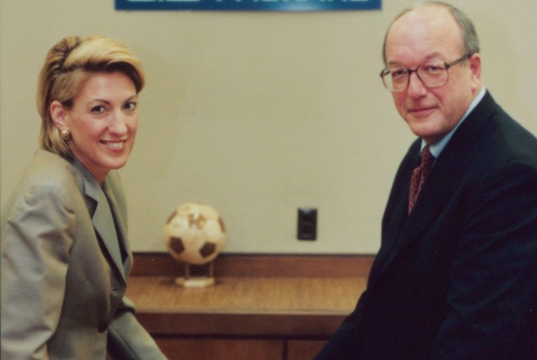
[{"label": "wrinkled grey-beige blazer sleeve of the woman, at left edge", "polygon": [[58,186],[32,187],[2,217],[1,358],[48,359],[76,224],[69,196]]}]

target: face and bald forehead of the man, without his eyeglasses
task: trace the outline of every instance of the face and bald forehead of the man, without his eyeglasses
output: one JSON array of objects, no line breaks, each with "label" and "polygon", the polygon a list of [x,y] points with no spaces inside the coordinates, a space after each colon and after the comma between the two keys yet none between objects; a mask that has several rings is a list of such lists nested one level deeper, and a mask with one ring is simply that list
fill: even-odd
[{"label": "face and bald forehead of the man, without his eyeglasses", "polygon": [[[428,62],[450,63],[464,55],[461,29],[444,8],[424,6],[392,24],[385,52],[389,67],[416,69]],[[480,67],[480,57],[474,54],[448,69],[445,85],[430,88],[412,73],[408,87],[392,93],[410,130],[429,144],[448,134],[480,89]]]}]

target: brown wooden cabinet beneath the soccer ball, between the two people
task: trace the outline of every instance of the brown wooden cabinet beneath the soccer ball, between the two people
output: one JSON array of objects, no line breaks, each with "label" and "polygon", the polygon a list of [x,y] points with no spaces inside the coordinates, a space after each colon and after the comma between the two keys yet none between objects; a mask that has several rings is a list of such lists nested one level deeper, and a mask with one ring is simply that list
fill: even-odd
[{"label": "brown wooden cabinet beneath the soccer ball, between the two people", "polygon": [[253,258],[250,268],[243,266],[252,257],[219,258],[215,286],[185,289],[174,283],[181,267],[167,256],[138,254],[127,296],[171,360],[309,360],[355,307],[372,261]]}]

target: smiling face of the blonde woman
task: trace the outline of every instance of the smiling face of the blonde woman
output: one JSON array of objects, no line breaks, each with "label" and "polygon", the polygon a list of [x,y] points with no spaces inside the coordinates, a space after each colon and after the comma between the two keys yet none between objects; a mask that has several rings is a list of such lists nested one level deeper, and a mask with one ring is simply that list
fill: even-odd
[{"label": "smiling face of the blonde woman", "polygon": [[138,127],[134,82],[120,71],[94,73],[64,110],[69,147],[100,183],[127,163]]}]

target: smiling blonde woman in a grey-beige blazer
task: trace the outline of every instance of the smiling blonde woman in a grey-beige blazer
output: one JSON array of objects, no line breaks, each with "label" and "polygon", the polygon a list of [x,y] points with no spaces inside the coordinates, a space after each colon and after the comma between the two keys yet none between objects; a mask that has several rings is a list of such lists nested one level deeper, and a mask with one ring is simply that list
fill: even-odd
[{"label": "smiling blonde woman in a grey-beige blazer", "polygon": [[1,217],[1,359],[165,359],[124,297],[132,257],[115,169],[143,84],[117,41],[69,37],[48,52],[41,149]]}]

